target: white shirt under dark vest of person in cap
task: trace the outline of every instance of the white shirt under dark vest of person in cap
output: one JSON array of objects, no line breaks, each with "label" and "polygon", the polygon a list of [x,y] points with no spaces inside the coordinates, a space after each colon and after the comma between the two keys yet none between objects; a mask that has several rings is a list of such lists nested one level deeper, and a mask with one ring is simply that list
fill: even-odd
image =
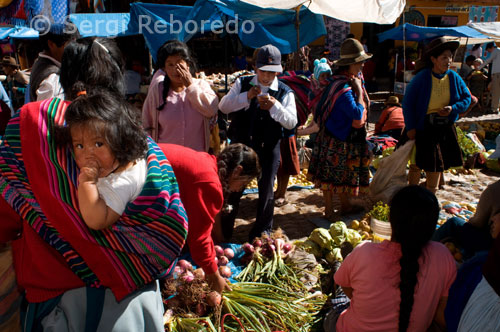
[{"label": "white shirt under dark vest of person in cap", "polygon": [[[259,85],[262,93],[266,93],[268,89],[278,91],[278,79],[275,77],[269,87],[262,86],[258,83],[257,75],[250,81],[254,85]],[[250,101],[247,98],[247,92],[241,92],[241,78],[236,80],[228,94],[222,97],[219,103],[219,110],[224,114],[247,110],[250,107]],[[283,97],[283,102],[278,100],[269,109],[271,118],[279,122],[286,129],[293,129],[297,125],[297,109],[295,107],[295,96],[293,92],[287,93]]]}]

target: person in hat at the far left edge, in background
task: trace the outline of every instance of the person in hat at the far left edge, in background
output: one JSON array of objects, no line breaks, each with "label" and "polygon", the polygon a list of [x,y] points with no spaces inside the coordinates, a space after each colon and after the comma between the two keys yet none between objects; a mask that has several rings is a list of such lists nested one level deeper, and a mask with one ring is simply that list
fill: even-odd
[{"label": "person in hat at the far left edge, in background", "polygon": [[15,110],[24,104],[24,94],[29,83],[29,75],[19,70],[19,65],[15,58],[4,56],[2,58],[2,70],[7,75],[7,93],[12,101]]}]

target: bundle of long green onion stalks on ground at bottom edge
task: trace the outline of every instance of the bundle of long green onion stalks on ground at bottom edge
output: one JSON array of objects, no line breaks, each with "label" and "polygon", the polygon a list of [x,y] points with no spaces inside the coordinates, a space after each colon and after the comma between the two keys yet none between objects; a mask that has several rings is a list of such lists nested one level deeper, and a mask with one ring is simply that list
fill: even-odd
[{"label": "bundle of long green onion stalks on ground at bottom edge", "polygon": [[[326,296],[315,292],[304,296],[280,287],[239,282],[222,295],[223,312],[238,317],[248,331],[310,331],[320,319],[316,314]],[[240,331],[235,322],[224,322],[225,331]]]}]

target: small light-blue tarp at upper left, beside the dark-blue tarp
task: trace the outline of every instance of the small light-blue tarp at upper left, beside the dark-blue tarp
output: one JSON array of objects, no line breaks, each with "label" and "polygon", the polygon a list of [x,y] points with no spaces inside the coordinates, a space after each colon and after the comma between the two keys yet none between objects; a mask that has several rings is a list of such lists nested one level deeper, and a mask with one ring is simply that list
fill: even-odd
[{"label": "small light-blue tarp at upper left, beside the dark-blue tarp", "polygon": [[137,34],[129,29],[130,13],[71,14],[82,37],[122,37]]}]

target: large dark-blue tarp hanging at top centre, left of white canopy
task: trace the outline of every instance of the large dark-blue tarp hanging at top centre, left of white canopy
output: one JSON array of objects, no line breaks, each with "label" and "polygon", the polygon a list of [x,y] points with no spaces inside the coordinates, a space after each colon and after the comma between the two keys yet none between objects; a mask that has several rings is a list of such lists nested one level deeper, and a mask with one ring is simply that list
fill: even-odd
[{"label": "large dark-blue tarp hanging at top centre, left of white canopy", "polygon": [[[193,7],[132,3],[130,14],[130,28],[144,35],[155,61],[165,41],[186,42],[210,31],[238,33],[241,42],[252,48],[273,44],[282,54],[297,49],[293,10],[263,9],[235,0],[198,0]],[[299,19],[301,47],[326,34],[321,15],[303,8]]]}]

